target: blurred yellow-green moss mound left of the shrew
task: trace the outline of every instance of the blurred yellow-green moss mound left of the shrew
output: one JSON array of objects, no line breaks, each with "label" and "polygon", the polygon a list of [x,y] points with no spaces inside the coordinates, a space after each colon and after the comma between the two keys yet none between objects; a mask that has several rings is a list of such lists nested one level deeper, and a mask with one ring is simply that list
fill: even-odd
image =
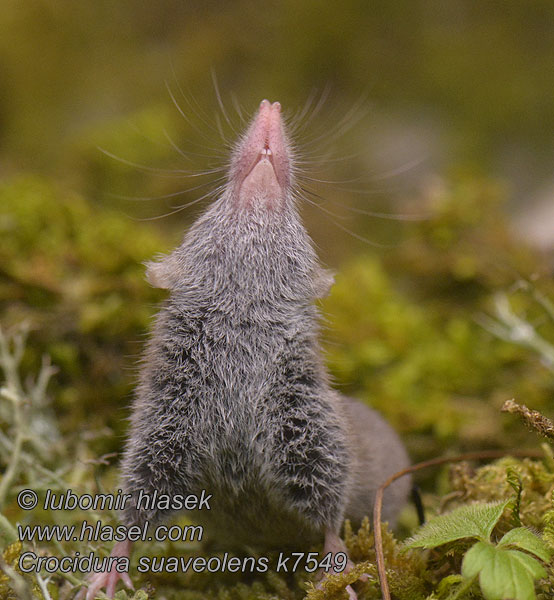
[{"label": "blurred yellow-green moss mound left of the shrew", "polygon": [[36,330],[27,368],[43,353],[60,368],[53,390],[69,429],[91,414],[97,424],[113,422],[130,392],[127,357],[137,354],[135,340],[162,297],[144,281],[141,263],[165,242],[36,176],[4,183],[0,206],[3,323],[25,320]]}]

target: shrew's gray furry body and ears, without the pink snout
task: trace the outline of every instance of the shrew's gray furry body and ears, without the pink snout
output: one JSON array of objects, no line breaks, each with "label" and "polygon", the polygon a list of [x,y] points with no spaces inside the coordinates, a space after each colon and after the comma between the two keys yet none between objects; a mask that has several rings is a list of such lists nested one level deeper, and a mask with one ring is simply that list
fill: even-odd
[{"label": "shrew's gray furry body and ears, without the pink snout", "polygon": [[[408,459],[381,417],[330,387],[314,300],[332,276],[290,191],[267,210],[237,206],[228,187],[148,267],[170,296],[144,357],[122,485],[135,497],[205,489],[212,509],[193,519],[224,545],[304,547],[370,513],[376,487]],[[387,518],[408,487],[389,494]],[[132,505],[123,520],[166,516]]]}]

